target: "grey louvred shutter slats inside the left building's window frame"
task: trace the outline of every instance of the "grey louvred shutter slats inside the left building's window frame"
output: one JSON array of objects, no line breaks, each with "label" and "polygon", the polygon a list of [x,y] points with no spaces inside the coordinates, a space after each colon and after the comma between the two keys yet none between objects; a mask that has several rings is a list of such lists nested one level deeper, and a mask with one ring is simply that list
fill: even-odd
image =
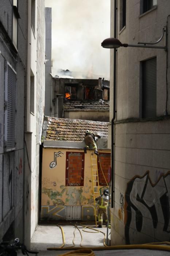
[{"label": "grey louvred shutter slats inside the left building's window frame", "polygon": [[16,74],[8,65],[7,71],[7,150],[15,148]]}]

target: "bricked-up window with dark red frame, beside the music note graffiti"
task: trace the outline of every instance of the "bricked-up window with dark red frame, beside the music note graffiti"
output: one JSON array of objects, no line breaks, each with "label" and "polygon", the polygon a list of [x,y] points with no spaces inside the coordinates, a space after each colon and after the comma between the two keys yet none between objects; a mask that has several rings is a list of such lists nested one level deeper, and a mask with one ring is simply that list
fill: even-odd
[{"label": "bricked-up window with dark red frame, beside the music note graffiti", "polygon": [[84,185],[84,153],[66,152],[66,186]]}]

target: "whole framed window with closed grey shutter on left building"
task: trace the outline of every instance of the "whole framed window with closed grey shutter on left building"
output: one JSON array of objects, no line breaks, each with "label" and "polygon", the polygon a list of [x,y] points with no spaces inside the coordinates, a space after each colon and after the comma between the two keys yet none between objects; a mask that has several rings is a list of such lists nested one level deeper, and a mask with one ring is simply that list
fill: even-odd
[{"label": "whole framed window with closed grey shutter on left building", "polygon": [[5,151],[15,149],[15,113],[16,113],[16,72],[7,63],[5,69]]}]

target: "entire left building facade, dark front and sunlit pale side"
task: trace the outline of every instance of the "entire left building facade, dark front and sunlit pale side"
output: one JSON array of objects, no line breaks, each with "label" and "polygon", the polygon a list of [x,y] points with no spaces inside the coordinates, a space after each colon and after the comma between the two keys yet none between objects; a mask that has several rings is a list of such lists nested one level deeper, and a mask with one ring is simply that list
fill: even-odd
[{"label": "entire left building facade, dark front and sunlit pale side", "polygon": [[38,223],[44,77],[44,0],[1,1],[0,240],[28,247]]}]

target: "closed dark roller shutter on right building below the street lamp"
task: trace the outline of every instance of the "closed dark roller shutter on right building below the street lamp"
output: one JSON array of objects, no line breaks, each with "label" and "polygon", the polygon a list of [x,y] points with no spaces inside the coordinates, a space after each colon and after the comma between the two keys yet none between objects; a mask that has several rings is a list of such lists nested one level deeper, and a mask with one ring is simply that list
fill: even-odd
[{"label": "closed dark roller shutter on right building below the street lamp", "polygon": [[157,58],[143,61],[143,114],[149,118],[157,115]]}]

